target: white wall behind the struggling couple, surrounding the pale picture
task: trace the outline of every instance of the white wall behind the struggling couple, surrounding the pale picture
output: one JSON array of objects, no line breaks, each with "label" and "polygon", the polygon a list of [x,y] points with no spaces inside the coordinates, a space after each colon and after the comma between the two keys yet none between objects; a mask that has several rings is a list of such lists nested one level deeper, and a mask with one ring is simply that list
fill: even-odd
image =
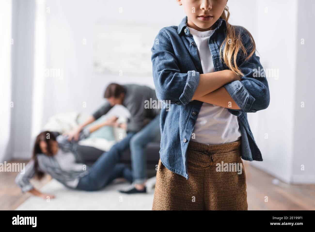
[{"label": "white wall behind the struggling couple, surrounding the pale picture", "polygon": [[[169,7],[165,7],[168,5]],[[124,74],[96,75],[93,72],[93,36],[96,22],[108,21],[139,24],[151,22],[157,25],[178,25],[185,16],[176,2],[164,0],[152,1],[55,1],[49,0],[47,17],[47,63],[46,67],[64,69],[64,79],[46,80],[45,104],[47,107],[43,118],[54,113],[69,110],[91,113],[104,101],[103,93],[107,84],[139,83],[154,87],[152,77],[136,77]],[[119,13],[123,7],[123,13]],[[160,17],[171,15],[171,17]],[[158,20],[157,20],[158,19]],[[160,23],[157,23],[160,21]],[[157,32],[162,26],[156,26]],[[119,30],[119,28],[117,28]],[[108,36],[111,36],[108,32]],[[145,33],[145,32],[139,32]],[[128,35],[126,35],[128,37]],[[87,44],[83,45],[82,40]],[[151,38],[152,44],[154,38]],[[62,94],[61,94],[62,93]],[[87,107],[82,107],[82,102]]]}]

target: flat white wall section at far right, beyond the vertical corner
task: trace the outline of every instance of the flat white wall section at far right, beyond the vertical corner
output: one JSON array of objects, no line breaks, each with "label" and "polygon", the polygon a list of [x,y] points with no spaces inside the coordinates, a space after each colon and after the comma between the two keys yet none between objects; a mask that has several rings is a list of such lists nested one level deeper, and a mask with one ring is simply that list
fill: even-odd
[{"label": "flat white wall section at far right, beyond the vertical corner", "polygon": [[[315,149],[314,149],[314,53],[315,32],[311,24],[314,22],[313,9],[315,1],[299,1],[296,33],[296,70],[295,70],[295,101],[294,111],[294,148],[292,159],[293,183],[315,183]],[[301,44],[301,39],[305,43]],[[301,107],[301,102],[305,106]],[[301,170],[301,165],[305,170]]]}]

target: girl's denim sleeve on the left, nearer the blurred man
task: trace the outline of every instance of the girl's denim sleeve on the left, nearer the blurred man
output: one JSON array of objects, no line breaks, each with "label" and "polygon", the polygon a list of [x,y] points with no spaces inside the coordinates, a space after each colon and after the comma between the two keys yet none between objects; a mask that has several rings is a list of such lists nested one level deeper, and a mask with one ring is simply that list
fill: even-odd
[{"label": "girl's denim sleeve on the left, nearer the blurred man", "polygon": [[151,49],[152,72],[155,91],[159,100],[186,105],[192,101],[200,74],[194,70],[181,73],[170,38],[160,30]]}]

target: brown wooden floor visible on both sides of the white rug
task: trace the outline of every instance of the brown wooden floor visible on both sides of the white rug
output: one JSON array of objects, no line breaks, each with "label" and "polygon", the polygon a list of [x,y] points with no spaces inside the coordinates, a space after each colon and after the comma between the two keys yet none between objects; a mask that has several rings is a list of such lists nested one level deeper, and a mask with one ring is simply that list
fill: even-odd
[{"label": "brown wooden floor visible on both sides of the white rug", "polygon": [[[274,177],[251,166],[249,162],[244,163],[248,210],[315,210],[315,185],[289,185],[281,181],[273,184]],[[14,210],[30,196],[28,193],[22,194],[15,185],[16,175],[16,172],[0,172],[0,210]],[[32,183],[40,188],[49,180],[50,177],[45,177],[41,182]]]}]

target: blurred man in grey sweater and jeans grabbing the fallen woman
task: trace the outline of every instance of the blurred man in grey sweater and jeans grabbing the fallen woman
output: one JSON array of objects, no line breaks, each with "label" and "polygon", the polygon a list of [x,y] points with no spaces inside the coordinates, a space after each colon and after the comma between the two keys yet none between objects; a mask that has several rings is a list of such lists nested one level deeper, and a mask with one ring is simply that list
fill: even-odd
[{"label": "blurred man in grey sweater and jeans grabbing the fallen woman", "polygon": [[[155,90],[147,86],[136,84],[109,84],[105,90],[106,103],[100,107],[86,122],[68,133],[69,140],[78,139],[80,131],[102,115],[106,114],[113,106],[123,105],[130,112],[127,123],[117,123],[117,117],[112,118],[112,126],[121,127],[130,136],[130,150],[132,162],[133,184],[120,190],[122,193],[146,192],[146,157],[144,149],[148,142],[154,141],[160,135],[160,111],[159,104],[152,107],[151,102],[158,102]],[[149,104],[147,104],[149,102]]]}]

